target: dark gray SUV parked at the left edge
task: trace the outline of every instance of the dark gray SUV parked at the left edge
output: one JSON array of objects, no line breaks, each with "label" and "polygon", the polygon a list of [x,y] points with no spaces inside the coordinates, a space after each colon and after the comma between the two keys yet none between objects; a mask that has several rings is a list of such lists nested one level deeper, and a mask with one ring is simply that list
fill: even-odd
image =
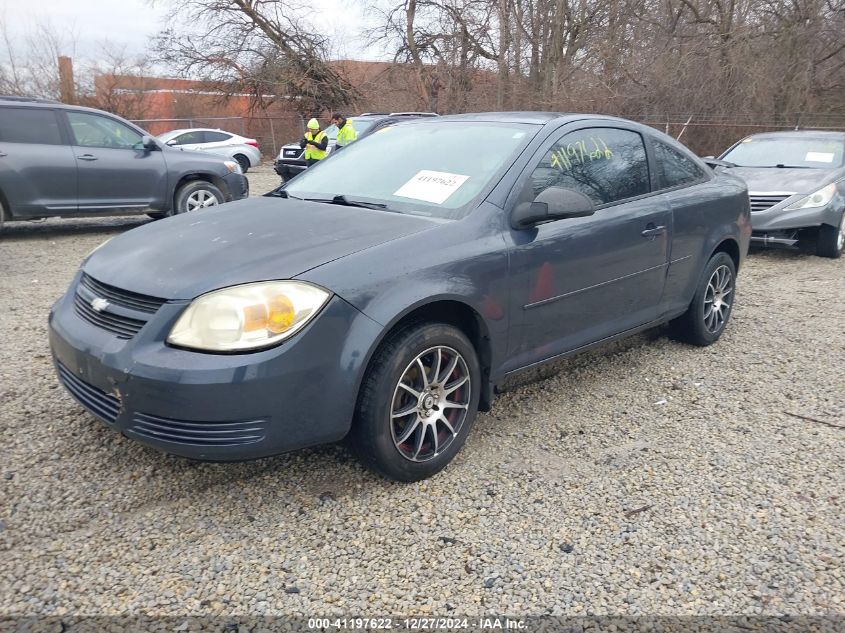
[{"label": "dark gray SUV parked at the left edge", "polygon": [[100,110],[0,97],[0,228],[48,216],[164,217],[248,193],[233,160],[171,149]]}]

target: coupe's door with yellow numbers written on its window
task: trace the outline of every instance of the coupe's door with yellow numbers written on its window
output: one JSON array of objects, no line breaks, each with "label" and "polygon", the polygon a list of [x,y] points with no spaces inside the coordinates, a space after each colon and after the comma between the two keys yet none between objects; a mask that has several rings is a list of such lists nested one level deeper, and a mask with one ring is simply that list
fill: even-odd
[{"label": "coupe's door with yellow numbers written on its window", "polygon": [[508,370],[657,318],[671,211],[651,194],[643,137],[616,125],[553,135],[511,196],[513,208],[563,187],[590,197],[596,211],[506,236],[514,323]]}]

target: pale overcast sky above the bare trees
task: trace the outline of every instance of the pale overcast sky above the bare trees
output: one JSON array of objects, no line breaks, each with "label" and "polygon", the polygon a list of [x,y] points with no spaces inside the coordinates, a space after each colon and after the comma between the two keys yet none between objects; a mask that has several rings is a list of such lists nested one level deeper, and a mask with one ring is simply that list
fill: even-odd
[{"label": "pale overcast sky above the bare trees", "polygon": [[[366,26],[352,0],[309,2],[319,24],[335,37],[339,37],[341,24],[345,25],[344,32],[356,34]],[[44,20],[59,32],[72,29],[77,55],[82,57],[94,55],[105,40],[142,53],[150,37],[161,29],[166,6],[161,0],[153,4],[146,0],[0,0],[0,19],[5,19],[16,36],[25,35],[33,24]],[[352,59],[384,57],[382,51],[365,46],[359,37],[345,37],[336,48],[345,53],[343,57]]]}]

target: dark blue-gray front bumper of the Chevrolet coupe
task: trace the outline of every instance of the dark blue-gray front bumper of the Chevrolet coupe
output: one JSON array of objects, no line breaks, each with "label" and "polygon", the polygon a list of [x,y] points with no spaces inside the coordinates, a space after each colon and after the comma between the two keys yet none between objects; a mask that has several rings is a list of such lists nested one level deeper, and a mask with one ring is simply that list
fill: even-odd
[{"label": "dark blue-gray front bumper of the Chevrolet coupe", "polygon": [[165,303],[122,340],[79,316],[78,279],[50,313],[50,348],[65,388],[115,431],[214,461],[275,455],[348,432],[381,326],[342,299],[278,347],[204,354],[163,342],[186,302]]}]

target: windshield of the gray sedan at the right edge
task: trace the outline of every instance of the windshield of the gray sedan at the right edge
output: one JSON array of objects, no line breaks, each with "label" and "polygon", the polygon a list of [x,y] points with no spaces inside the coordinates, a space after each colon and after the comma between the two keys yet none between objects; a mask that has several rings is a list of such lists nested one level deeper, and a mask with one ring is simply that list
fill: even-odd
[{"label": "windshield of the gray sedan at the right edge", "polygon": [[760,138],[750,136],[722,160],[737,167],[814,167],[835,169],[842,167],[845,141],[824,137]]}]

